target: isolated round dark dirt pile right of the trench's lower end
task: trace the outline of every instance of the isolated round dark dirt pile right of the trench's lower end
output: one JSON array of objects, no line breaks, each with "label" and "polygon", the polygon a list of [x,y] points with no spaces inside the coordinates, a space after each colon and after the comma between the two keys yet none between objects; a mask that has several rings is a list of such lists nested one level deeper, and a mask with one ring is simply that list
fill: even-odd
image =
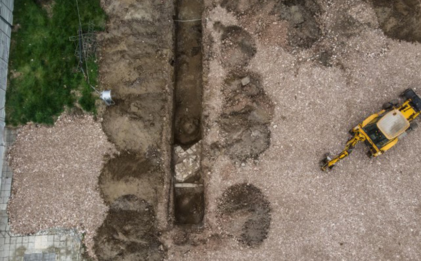
[{"label": "isolated round dark dirt pile right of the trench's lower end", "polygon": [[271,207],[262,192],[251,184],[229,187],[218,204],[224,232],[247,246],[258,246],[267,238]]}]

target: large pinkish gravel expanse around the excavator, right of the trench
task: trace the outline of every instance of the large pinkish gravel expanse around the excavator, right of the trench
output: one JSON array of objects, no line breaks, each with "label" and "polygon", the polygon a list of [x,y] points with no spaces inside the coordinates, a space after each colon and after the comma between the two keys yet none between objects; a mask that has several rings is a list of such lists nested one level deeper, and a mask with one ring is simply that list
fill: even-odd
[{"label": "large pinkish gravel expanse around the excavator, right of the trench", "polygon": [[[331,172],[322,172],[319,161],[326,152],[339,152],[347,130],[384,102],[409,87],[421,94],[421,45],[385,37],[368,1],[318,2],[322,36],[309,49],[284,48],[282,39],[258,37],[254,27],[247,29],[250,23],[244,23],[244,16],[208,2],[203,29],[210,54],[205,66],[204,149],[223,138],[218,118],[228,70],[214,22],[241,26],[255,37],[257,53],[246,69],[262,76],[275,104],[271,146],[258,163],[242,165],[226,155],[210,161],[205,177],[208,241],[181,249],[170,242],[168,260],[420,259],[421,130],[375,159],[367,158],[361,144]],[[270,16],[256,15],[268,21]],[[342,17],[354,19],[355,26],[338,28]],[[324,50],[330,53],[325,65],[317,56]],[[218,199],[228,187],[243,182],[258,187],[272,208],[269,234],[259,247],[245,248],[229,237],[211,239],[221,234]]]}]

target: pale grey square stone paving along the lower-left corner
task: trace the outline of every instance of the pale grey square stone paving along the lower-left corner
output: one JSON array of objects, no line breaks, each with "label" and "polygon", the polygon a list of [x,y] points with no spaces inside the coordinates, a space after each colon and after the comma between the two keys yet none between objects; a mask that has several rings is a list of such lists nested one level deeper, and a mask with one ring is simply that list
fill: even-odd
[{"label": "pale grey square stone paving along the lower-left corner", "polygon": [[37,235],[13,235],[7,217],[13,173],[7,164],[7,147],[16,140],[16,130],[5,128],[6,150],[0,186],[0,261],[78,261],[81,260],[81,238],[73,230],[54,229]]}]

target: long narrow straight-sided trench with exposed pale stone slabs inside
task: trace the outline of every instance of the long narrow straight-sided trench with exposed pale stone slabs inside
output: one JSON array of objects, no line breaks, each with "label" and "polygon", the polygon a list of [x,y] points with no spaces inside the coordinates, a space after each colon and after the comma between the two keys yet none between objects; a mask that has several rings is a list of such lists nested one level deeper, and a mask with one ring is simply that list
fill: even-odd
[{"label": "long narrow straight-sided trench with exposed pale stone slabs inside", "polygon": [[176,0],[174,214],[177,224],[200,225],[203,0]]}]

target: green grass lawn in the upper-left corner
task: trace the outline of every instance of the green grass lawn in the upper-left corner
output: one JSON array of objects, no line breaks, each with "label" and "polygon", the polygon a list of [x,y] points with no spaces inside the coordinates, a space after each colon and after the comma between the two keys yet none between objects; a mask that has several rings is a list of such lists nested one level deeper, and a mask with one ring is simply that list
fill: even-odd
[{"label": "green grass lawn in the upper-left corner", "polygon": [[[15,0],[13,22],[20,27],[12,33],[9,59],[6,123],[10,125],[29,121],[53,124],[66,106],[73,107],[76,102],[85,111],[95,112],[92,88],[77,71],[76,47],[69,41],[69,36],[78,33],[76,1],[54,0],[50,17],[39,2],[51,4],[52,0]],[[84,32],[89,21],[97,31],[104,29],[106,16],[99,0],[79,0],[79,8]],[[94,86],[97,70],[92,59],[89,75]]]}]

